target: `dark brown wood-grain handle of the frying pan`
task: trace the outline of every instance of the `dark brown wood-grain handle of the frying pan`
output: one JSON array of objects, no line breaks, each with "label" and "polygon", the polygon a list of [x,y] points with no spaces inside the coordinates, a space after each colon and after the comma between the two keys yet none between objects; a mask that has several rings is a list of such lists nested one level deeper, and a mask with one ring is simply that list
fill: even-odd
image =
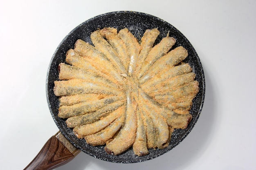
[{"label": "dark brown wood-grain handle of the frying pan", "polygon": [[52,170],[71,161],[78,153],[61,132],[52,136],[24,170]]}]

